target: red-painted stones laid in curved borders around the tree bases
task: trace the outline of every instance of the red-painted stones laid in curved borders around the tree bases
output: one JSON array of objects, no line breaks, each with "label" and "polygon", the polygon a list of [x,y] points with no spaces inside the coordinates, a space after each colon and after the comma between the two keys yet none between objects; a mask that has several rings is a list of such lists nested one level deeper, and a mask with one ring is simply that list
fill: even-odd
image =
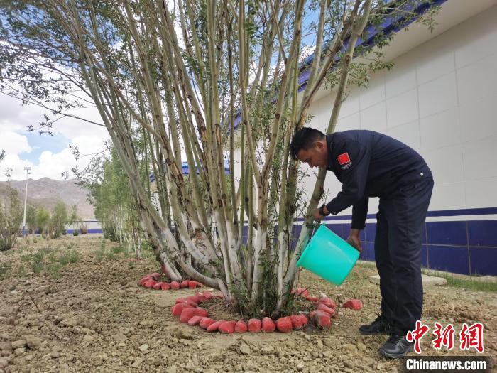
[{"label": "red-painted stones laid in curved borders around the tree bases", "polygon": [[[171,281],[170,283],[158,281],[160,274],[154,272],[143,276],[138,281],[138,285],[145,288],[153,288],[155,290],[178,290],[180,288],[198,288],[202,287],[202,283],[195,280],[185,280],[181,283]],[[204,293],[195,293],[192,296],[180,297],[175,301],[175,305],[171,308],[171,313],[179,318],[180,323],[188,325],[198,325],[200,328],[207,330],[209,333],[219,331],[220,333],[272,333],[276,330],[280,333],[290,333],[292,330],[301,330],[305,328],[309,320],[317,328],[328,330],[332,327],[332,318],[338,317],[337,304],[324,294],[322,296],[310,296],[307,288],[295,288],[292,293],[296,296],[301,296],[315,306],[315,310],[309,313],[309,316],[303,313],[285,316],[272,320],[265,317],[261,320],[251,318],[245,320],[214,320],[209,318],[209,313],[204,308],[200,307],[200,303],[209,301],[212,298],[224,298],[222,295],[213,295],[209,291]],[[342,307],[351,310],[361,310],[362,301],[359,299],[349,299],[344,302]]]}]

